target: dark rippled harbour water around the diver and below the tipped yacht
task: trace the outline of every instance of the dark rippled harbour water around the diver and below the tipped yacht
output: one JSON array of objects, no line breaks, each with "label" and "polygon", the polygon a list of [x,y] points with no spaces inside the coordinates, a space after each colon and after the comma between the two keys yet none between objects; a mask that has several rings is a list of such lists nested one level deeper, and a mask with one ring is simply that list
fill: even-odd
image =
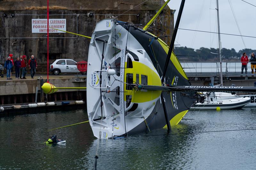
[{"label": "dark rippled harbour water around the diver and below the tipped yacht", "polygon": [[[0,169],[256,169],[256,108],[189,111],[172,132],[159,129],[116,140],[98,140],[90,125],[47,132],[88,120],[84,110],[0,118]],[[177,134],[178,133],[178,134]],[[66,145],[47,146],[56,134]],[[163,134],[163,135],[161,135]]]}]

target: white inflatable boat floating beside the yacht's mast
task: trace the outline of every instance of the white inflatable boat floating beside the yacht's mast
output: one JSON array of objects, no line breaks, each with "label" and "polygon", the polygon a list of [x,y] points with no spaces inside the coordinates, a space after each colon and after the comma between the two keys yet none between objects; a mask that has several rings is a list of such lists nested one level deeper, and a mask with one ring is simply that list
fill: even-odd
[{"label": "white inflatable boat floating beside the yacht's mast", "polygon": [[246,104],[250,103],[249,97],[237,98],[232,100],[217,100],[213,102],[196,103],[190,109],[196,110],[223,110],[223,109],[235,109],[242,108]]}]

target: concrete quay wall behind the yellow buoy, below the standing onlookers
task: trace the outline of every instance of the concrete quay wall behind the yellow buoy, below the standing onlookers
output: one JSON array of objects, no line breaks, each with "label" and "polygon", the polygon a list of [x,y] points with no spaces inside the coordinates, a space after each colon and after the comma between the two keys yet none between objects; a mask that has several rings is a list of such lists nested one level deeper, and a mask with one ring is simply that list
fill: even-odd
[{"label": "concrete quay wall behind the yellow buoy, below the standing onlookers", "polygon": [[[0,78],[0,105],[15,103],[33,103],[58,100],[86,100],[86,90],[58,90],[46,95],[41,86],[47,81],[47,75],[36,75],[34,79],[27,75],[27,79],[12,80]],[[49,82],[56,87],[85,87],[86,76],[82,75],[49,75]]]}]

